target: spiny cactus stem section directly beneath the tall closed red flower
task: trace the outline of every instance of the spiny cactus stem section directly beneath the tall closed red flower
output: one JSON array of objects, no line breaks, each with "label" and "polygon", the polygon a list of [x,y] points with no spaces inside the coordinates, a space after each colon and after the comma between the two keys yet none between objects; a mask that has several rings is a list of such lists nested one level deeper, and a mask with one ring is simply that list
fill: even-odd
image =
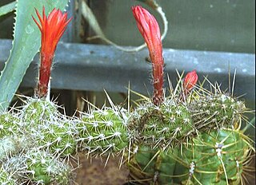
[{"label": "spiny cactus stem section directly beneath the tall closed red flower", "polygon": [[130,119],[130,129],[139,133],[136,140],[150,148],[171,147],[194,129],[188,108],[174,100],[165,100],[161,106],[151,102],[141,104]]}]

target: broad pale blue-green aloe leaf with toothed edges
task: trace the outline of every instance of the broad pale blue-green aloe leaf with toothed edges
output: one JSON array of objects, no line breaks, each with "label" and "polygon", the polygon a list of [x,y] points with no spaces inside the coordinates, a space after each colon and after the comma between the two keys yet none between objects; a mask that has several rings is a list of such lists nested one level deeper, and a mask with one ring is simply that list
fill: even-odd
[{"label": "broad pale blue-green aloe leaf with toothed edges", "polygon": [[32,19],[32,15],[37,18],[34,9],[42,12],[42,7],[45,6],[46,14],[49,14],[54,8],[64,10],[68,2],[69,0],[16,2],[13,47],[0,77],[0,110],[6,109],[10,104],[26,69],[40,48],[41,33]]}]

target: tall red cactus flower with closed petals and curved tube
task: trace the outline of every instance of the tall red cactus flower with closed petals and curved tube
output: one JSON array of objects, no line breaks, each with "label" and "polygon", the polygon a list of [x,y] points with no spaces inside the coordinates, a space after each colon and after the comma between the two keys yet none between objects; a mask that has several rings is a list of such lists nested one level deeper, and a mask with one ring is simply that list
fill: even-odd
[{"label": "tall red cactus flower with closed petals and curved tube", "polygon": [[153,69],[154,96],[153,103],[158,105],[163,100],[163,57],[161,33],[157,20],[142,6],[132,7],[138,30],[144,37],[150,51],[150,59]]}]

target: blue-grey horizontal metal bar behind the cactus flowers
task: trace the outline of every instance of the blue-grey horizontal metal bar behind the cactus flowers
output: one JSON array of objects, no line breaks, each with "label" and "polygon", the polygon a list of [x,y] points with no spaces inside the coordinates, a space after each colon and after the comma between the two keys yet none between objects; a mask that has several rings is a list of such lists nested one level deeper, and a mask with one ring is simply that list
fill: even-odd
[{"label": "blue-grey horizontal metal bar behind the cactus flowers", "polygon": [[[0,40],[0,69],[10,53],[11,41]],[[229,71],[233,78],[236,70],[234,93],[255,102],[255,55],[249,53],[222,53],[193,50],[164,49],[165,72],[175,84],[177,73],[196,69],[199,80],[204,76],[218,81],[222,89],[229,84]],[[151,92],[150,69],[146,62],[147,49],[138,53],[125,53],[109,45],[60,43],[54,58],[51,87],[54,89],[79,89],[92,91],[139,93]],[[34,87],[38,56],[27,70],[23,87]],[[232,79],[231,79],[232,81]],[[166,81],[167,87],[167,81]]]}]

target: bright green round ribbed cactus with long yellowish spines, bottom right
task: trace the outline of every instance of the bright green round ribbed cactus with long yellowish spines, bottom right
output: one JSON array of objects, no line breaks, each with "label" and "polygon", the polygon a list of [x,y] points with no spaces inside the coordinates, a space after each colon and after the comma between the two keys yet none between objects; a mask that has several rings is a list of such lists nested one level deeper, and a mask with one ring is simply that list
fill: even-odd
[{"label": "bright green round ribbed cactus with long yellowish spines, bottom right", "polygon": [[174,175],[178,183],[243,183],[242,172],[250,159],[248,138],[232,129],[203,132],[182,145],[173,155],[177,161]]}]

